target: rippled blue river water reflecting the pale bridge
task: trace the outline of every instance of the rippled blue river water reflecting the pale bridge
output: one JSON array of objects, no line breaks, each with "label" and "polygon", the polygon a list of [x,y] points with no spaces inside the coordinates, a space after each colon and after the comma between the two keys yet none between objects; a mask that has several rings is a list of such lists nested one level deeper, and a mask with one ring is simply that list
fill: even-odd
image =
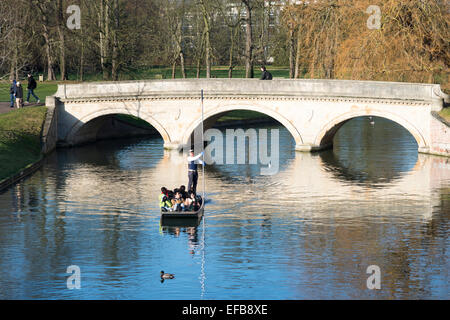
[{"label": "rippled blue river water reflecting the pale bridge", "polygon": [[161,138],[58,150],[0,194],[0,298],[450,298],[448,158],[379,118],[348,122],[320,154],[278,129],[277,174],[207,166],[198,228],[160,226],[159,188],[187,184]]}]

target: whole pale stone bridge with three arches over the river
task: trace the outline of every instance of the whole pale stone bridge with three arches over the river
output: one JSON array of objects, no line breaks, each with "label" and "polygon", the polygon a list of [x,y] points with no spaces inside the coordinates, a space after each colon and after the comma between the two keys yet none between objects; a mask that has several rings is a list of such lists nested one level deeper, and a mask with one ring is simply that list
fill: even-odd
[{"label": "whole pale stone bridge with three arches over the river", "polygon": [[253,110],[277,120],[291,133],[298,151],[332,146],[348,120],[377,116],[392,120],[415,138],[418,151],[450,155],[450,128],[433,113],[443,108],[439,85],[346,80],[189,79],[59,85],[47,98],[56,110],[57,141],[72,146],[95,140],[102,119],[129,114],[151,124],[166,149],[188,143],[233,110]]}]

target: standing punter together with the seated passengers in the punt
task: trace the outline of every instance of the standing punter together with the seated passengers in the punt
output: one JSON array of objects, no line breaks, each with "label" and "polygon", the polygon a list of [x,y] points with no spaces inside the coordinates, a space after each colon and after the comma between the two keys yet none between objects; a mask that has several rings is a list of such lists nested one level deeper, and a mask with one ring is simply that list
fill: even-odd
[{"label": "standing punter together with the seated passengers in the punt", "polygon": [[185,186],[178,189],[168,190],[166,187],[161,188],[159,195],[159,206],[162,212],[188,212],[198,211],[202,205],[202,197],[197,195],[198,171],[197,165],[205,163],[200,159],[203,152],[194,156],[194,150],[190,150],[188,157],[188,190]]}]

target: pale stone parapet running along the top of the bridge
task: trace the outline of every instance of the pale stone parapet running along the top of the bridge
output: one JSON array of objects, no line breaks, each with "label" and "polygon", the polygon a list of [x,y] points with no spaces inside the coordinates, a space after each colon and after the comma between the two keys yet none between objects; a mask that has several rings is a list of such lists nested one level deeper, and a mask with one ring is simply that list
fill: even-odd
[{"label": "pale stone parapet running along the top of the bridge", "polygon": [[195,96],[266,96],[283,97],[347,97],[394,99],[400,101],[433,101],[437,111],[442,108],[444,93],[438,84],[356,81],[356,80],[272,80],[257,79],[176,79],[121,82],[90,82],[58,86],[55,96],[61,101],[96,98],[135,98]]}]

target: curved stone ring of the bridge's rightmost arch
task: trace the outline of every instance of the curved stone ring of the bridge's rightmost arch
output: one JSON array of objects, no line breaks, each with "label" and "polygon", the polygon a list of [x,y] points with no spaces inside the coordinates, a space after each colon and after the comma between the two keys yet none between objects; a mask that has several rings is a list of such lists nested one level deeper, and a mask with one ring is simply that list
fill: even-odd
[{"label": "curved stone ring of the bridge's rightmost arch", "polygon": [[334,118],[321,128],[321,130],[319,131],[319,133],[315,138],[314,144],[316,146],[319,146],[320,148],[327,148],[333,144],[333,138],[335,134],[347,121],[358,117],[370,117],[370,116],[391,120],[399,124],[403,128],[405,128],[416,140],[417,145],[419,146],[419,151],[426,150],[429,148],[430,144],[427,142],[423,134],[410,122],[408,122],[402,117],[399,117],[389,112],[384,111],[378,112],[373,110],[369,113],[364,110],[351,111]]}]

